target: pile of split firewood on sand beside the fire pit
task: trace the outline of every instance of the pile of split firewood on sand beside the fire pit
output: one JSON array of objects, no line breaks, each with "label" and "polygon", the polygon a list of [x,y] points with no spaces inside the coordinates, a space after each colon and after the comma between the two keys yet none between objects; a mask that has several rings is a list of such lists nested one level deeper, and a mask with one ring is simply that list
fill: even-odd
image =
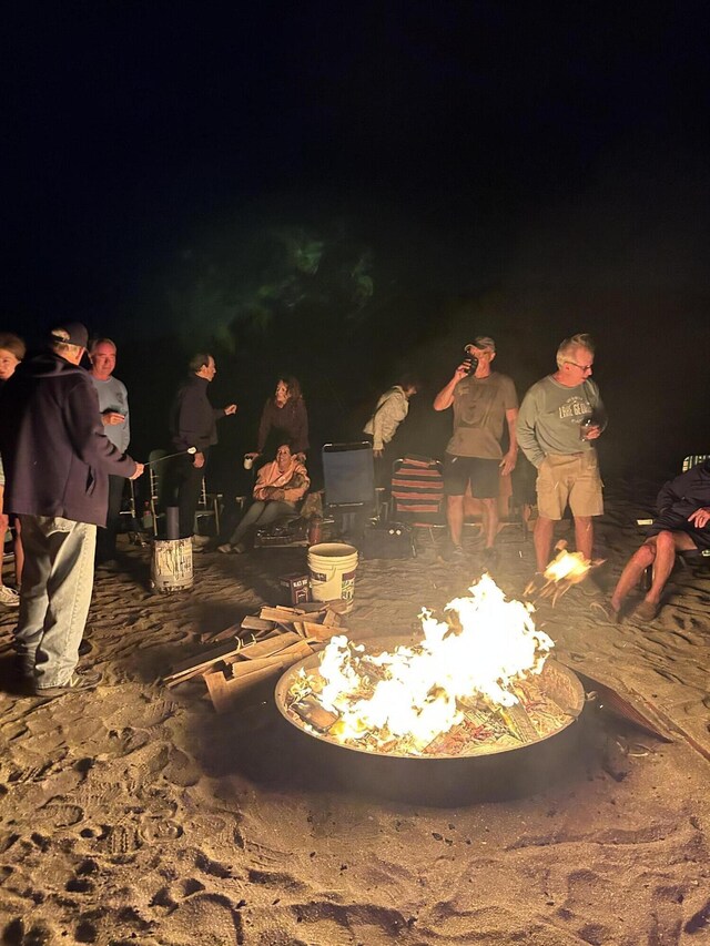
[{"label": "pile of split firewood on sand beside the fire pit", "polygon": [[215,634],[200,638],[210,644],[179,661],[163,677],[166,686],[178,686],[202,677],[217,713],[231,710],[247,690],[262,680],[277,677],[287,667],[321,650],[333,634],[347,634],[341,614],[347,602],[328,601],[303,608],[263,607]]}]

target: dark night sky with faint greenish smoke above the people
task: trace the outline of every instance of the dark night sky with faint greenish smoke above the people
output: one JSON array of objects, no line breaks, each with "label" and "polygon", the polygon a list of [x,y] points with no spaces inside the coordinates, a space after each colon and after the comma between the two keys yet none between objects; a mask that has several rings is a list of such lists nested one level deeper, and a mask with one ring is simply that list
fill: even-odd
[{"label": "dark night sky with faint greenish smoke above the people", "polygon": [[210,345],[232,456],[278,370],[314,444],[417,370],[436,450],[471,335],[521,396],[589,330],[602,465],[663,478],[710,448],[710,18],[618,6],[16,4],[3,327],[115,337],[141,449]]}]

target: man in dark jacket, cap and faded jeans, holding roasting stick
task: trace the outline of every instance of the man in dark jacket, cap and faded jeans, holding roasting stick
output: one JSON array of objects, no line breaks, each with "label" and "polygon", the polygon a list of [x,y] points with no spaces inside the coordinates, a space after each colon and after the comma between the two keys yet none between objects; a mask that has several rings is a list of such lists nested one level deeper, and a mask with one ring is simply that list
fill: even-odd
[{"label": "man in dark jacket, cap and faded jeans, holding roasting stick", "polygon": [[26,553],[14,645],[39,696],[100,682],[77,669],[97,526],[106,521],[109,475],[143,472],[103,433],[97,391],[80,367],[87,342],[80,323],[54,328],[49,350],[26,359],[2,390],[6,506],[20,517]]}]

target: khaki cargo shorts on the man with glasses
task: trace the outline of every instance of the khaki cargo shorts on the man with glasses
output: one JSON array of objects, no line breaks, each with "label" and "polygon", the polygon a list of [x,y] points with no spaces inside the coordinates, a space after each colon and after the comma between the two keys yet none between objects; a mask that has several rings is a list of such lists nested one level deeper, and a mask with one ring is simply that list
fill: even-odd
[{"label": "khaki cargo shorts on the man with glasses", "polygon": [[572,516],[601,516],[604,484],[596,450],[548,454],[537,470],[537,510],[546,519],[561,519],[569,502]]}]

